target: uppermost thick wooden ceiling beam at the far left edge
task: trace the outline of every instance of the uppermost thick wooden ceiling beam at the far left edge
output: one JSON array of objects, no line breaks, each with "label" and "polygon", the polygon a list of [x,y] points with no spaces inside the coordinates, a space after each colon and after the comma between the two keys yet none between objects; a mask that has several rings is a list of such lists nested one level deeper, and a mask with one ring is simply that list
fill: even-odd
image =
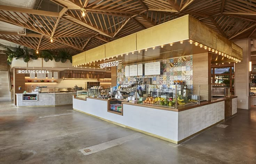
[{"label": "uppermost thick wooden ceiling beam at the far left edge", "polygon": [[22,12],[22,13],[28,13],[28,14],[34,14],[34,15],[43,15],[43,16],[49,16],[49,17],[59,17],[58,12],[26,9],[26,8],[13,7],[13,6],[0,5],[0,10],[13,11],[13,12]]}]

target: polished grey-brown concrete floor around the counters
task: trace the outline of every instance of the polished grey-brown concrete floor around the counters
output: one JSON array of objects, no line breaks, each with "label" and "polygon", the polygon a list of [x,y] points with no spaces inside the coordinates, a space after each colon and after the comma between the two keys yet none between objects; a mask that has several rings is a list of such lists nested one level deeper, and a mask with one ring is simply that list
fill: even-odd
[{"label": "polished grey-brown concrete floor around the counters", "polygon": [[[17,108],[0,102],[0,163],[256,163],[256,110],[238,110],[222,124],[228,126],[176,145],[72,106]],[[79,151],[86,147],[96,152]]]}]

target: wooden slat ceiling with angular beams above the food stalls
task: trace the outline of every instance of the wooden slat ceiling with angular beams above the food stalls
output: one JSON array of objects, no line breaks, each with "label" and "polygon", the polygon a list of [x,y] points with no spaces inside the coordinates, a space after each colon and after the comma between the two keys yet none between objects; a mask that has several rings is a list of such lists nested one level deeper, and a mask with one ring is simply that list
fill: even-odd
[{"label": "wooden slat ceiling with angular beams above the food stalls", "polygon": [[0,39],[38,50],[69,48],[75,55],[186,14],[228,39],[256,39],[256,0],[51,0],[59,12],[40,10],[46,1],[34,9],[0,5],[0,21],[33,33],[0,31]]}]

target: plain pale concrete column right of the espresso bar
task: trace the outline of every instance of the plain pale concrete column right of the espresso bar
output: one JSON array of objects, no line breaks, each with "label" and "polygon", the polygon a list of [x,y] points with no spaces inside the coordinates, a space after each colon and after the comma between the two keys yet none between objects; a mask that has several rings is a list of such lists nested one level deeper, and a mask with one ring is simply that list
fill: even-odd
[{"label": "plain pale concrete column right of the espresso bar", "polygon": [[250,39],[241,39],[234,42],[243,48],[243,61],[235,63],[235,95],[238,96],[237,108],[250,109],[249,100],[249,61],[251,60]]}]

